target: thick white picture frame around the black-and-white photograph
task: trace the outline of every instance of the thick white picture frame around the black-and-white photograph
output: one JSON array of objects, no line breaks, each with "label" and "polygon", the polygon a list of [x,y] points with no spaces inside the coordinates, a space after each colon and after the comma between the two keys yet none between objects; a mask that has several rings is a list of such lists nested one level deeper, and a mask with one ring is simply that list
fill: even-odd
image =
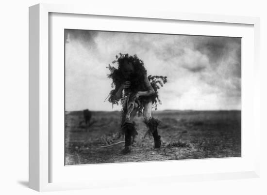
[{"label": "thick white picture frame around the black-and-white photograph", "polygon": [[[37,191],[54,191],[54,190],[67,190],[67,189],[83,189],[83,188],[94,188],[94,187],[109,187],[109,186],[124,186],[124,185],[143,185],[143,184],[162,184],[168,182],[179,182],[179,181],[200,181],[200,180],[221,180],[221,179],[237,179],[237,178],[256,178],[260,176],[260,154],[254,153],[253,156],[249,155],[238,159],[202,159],[202,160],[188,160],[188,161],[171,161],[156,164],[157,167],[162,169],[168,163],[168,166],[179,166],[184,164],[191,164],[192,166],[199,165],[226,165],[227,169],[218,169],[214,167],[210,171],[196,172],[192,171],[188,174],[178,174],[175,171],[167,174],[162,172],[157,176],[150,172],[150,165],[155,165],[155,162],[146,163],[127,163],[117,165],[84,165],[84,166],[72,166],[69,168],[72,174],[76,174],[75,177],[82,178],[81,180],[62,180],[58,178],[56,181],[51,179],[51,174],[59,170],[60,167],[55,166],[51,158],[53,158],[53,147],[51,147],[51,116],[50,110],[52,109],[50,104],[52,85],[51,82],[51,70],[49,64],[50,61],[50,45],[53,40],[50,40],[50,18],[51,13],[58,14],[75,14],[75,15],[94,15],[106,16],[106,17],[120,17],[124,20],[127,19],[144,19],[144,20],[161,20],[165,21],[184,21],[184,22],[204,22],[213,24],[229,24],[230,26],[235,25],[250,25],[253,31],[253,55],[250,60],[252,64],[249,70],[252,70],[253,76],[251,79],[249,90],[253,90],[250,97],[242,99],[242,104],[253,103],[247,110],[252,112],[253,120],[249,126],[252,127],[253,136],[250,138],[253,142],[254,151],[260,151],[260,122],[256,113],[260,113],[260,78],[259,78],[259,43],[260,43],[260,20],[257,17],[245,17],[245,16],[227,16],[227,15],[202,15],[202,14],[185,14],[185,13],[174,13],[166,11],[153,11],[153,10],[122,10],[122,9],[95,9],[94,7],[83,7],[78,5],[55,5],[55,4],[37,4],[29,8],[29,186],[30,188]],[[208,28],[208,27],[207,27]],[[223,28],[223,27],[222,27]],[[250,28],[250,31],[251,31]],[[64,39],[64,35],[62,35]],[[250,36],[250,35],[248,35]],[[250,37],[251,38],[251,37]],[[242,64],[243,66],[243,64]],[[247,74],[247,73],[246,73]],[[247,85],[246,80],[242,80],[242,95],[247,94],[246,89],[243,90],[244,85]],[[244,93],[243,93],[244,92]],[[249,93],[248,93],[249,94]],[[243,107],[242,107],[243,109]],[[63,112],[63,111],[62,111]],[[245,116],[246,117],[246,116]],[[244,120],[245,119],[245,120]],[[242,128],[246,118],[243,117],[242,113]],[[242,146],[246,146],[246,140],[248,136],[242,137]],[[242,151],[244,152],[244,151]],[[246,152],[246,151],[245,151]],[[247,160],[246,160],[247,159]],[[62,160],[62,159],[61,159]],[[54,159],[54,161],[57,161]],[[240,165],[248,163],[248,165]],[[217,164],[218,163],[218,164]],[[236,169],[235,166],[230,168],[232,164],[240,165],[242,169]],[[64,165],[62,165],[64,166]],[[142,166],[142,174],[133,175],[133,178],[123,178],[123,173],[129,168],[136,168]],[[53,168],[52,168],[53,167]],[[112,168],[111,168],[112,167]],[[65,171],[62,167],[61,171]],[[75,169],[77,168],[77,169]],[[98,172],[93,170],[105,170],[106,174],[115,174],[112,170],[120,168],[120,173],[113,177],[97,177]],[[78,170],[79,169],[79,170]],[[90,169],[90,176],[84,176],[81,173]],[[62,174],[59,172],[57,174]],[[86,172],[86,171],[85,171]],[[77,175],[78,173],[78,175]],[[79,175],[80,174],[80,175]],[[63,174],[64,175],[64,174]],[[101,176],[101,174],[99,174]],[[74,177],[74,176],[72,176]],[[123,180],[121,181],[120,179]],[[149,178],[149,180],[148,180]],[[161,178],[160,182],[157,178]],[[125,180],[127,179],[127,180]]]}]

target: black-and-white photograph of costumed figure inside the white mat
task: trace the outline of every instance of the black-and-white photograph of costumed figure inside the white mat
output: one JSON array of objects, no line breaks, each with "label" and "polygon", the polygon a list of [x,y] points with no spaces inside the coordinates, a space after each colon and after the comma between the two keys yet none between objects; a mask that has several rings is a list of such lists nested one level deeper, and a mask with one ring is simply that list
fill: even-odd
[{"label": "black-and-white photograph of costumed figure inside the white mat", "polygon": [[65,165],[241,157],[241,38],[65,29]]}]

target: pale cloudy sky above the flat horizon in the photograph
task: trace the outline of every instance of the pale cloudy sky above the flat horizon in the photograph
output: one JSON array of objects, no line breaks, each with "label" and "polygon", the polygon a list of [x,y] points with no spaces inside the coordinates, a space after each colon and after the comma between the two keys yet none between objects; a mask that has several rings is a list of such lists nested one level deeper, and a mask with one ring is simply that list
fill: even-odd
[{"label": "pale cloudy sky above the flat horizon in the photograph", "polygon": [[120,110],[104,102],[108,64],[136,54],[148,75],[167,76],[158,110],[241,109],[241,38],[65,30],[66,111]]}]

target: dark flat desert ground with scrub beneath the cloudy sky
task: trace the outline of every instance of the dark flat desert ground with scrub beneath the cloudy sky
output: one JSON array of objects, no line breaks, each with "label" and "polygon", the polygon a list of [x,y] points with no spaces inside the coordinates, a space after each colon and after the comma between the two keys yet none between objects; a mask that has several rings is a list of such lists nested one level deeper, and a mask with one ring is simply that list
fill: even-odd
[{"label": "dark flat desert ground with scrub beneath the cloudy sky", "polygon": [[120,155],[120,112],[93,111],[85,125],[83,111],[65,114],[65,165],[203,159],[241,156],[241,111],[154,111],[162,147],[154,149],[143,117],[132,152]]}]

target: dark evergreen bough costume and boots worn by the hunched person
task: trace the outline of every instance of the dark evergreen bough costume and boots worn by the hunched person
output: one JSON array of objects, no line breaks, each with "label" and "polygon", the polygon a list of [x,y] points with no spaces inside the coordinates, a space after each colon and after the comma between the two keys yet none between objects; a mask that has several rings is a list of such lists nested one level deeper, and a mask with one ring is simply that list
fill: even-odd
[{"label": "dark evergreen bough costume and boots worn by the hunched person", "polygon": [[[133,73],[131,75],[124,74],[123,68],[125,65],[131,64],[133,67]],[[161,104],[158,96],[158,90],[163,87],[167,82],[166,76],[147,76],[147,71],[144,67],[144,63],[136,55],[130,56],[128,54],[119,54],[116,56],[116,60],[112,62],[117,63],[118,68],[114,66],[107,67],[110,71],[108,75],[112,79],[111,87],[113,90],[110,91],[108,101],[113,104],[121,104],[121,133],[125,135],[125,148],[122,153],[130,152],[130,146],[134,142],[134,137],[137,135],[135,128],[134,117],[144,116],[144,122],[148,127],[148,133],[153,135],[154,147],[160,148],[161,137],[158,135],[157,126],[159,120],[155,119],[151,115],[151,108]],[[130,82],[131,86],[127,89],[122,90],[122,95],[117,98],[117,91],[124,82]],[[140,91],[146,92],[149,88],[152,88],[152,93],[147,95],[136,96]]]}]

